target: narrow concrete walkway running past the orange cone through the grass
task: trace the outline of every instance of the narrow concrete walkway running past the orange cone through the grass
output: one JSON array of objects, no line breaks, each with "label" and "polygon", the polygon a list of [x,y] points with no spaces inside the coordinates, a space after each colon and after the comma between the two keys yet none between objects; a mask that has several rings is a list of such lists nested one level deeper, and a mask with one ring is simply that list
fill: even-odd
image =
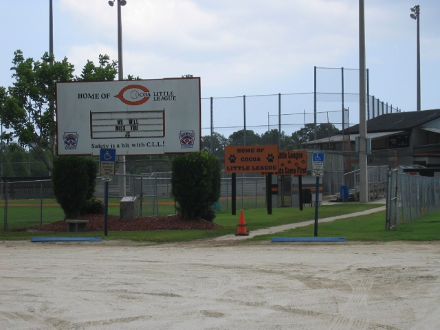
[{"label": "narrow concrete walkway running past the orange cone through the grass", "polygon": [[[361,215],[384,211],[385,208],[386,208],[386,206],[380,206],[379,208],[371,208],[370,210],[365,210],[362,212],[342,214],[342,215],[337,215],[336,217],[318,219],[318,223],[331,222],[331,221],[335,221],[337,219],[360,217]],[[263,229],[259,229],[259,230],[252,230],[252,232],[250,232],[249,236],[235,236],[234,234],[232,234],[232,235],[217,237],[216,239],[214,239],[214,241],[239,241],[239,240],[243,240],[243,239],[250,239],[251,237],[254,237],[257,235],[273,234],[274,232],[283,232],[285,230],[289,230],[289,229],[293,229],[293,228],[297,228],[297,227],[304,227],[305,225],[311,225],[313,223],[315,223],[314,219],[309,220],[309,221],[297,222],[297,223],[288,223],[287,225],[276,225],[275,227],[263,228]]]}]

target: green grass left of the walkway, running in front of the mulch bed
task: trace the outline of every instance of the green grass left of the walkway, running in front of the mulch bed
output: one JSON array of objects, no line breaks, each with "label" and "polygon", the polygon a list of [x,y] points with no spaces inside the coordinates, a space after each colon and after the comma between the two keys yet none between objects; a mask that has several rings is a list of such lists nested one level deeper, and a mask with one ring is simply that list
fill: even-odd
[{"label": "green grass left of the walkway, running in front of the mulch bed", "polygon": [[[360,204],[360,203],[346,203],[336,204],[331,206],[321,206],[319,208],[319,217],[333,217],[339,214],[349,214],[353,212],[359,212],[362,210],[368,210],[370,208],[377,208],[380,204]],[[29,207],[27,207],[29,208]],[[28,212],[25,207],[17,208],[17,212]],[[45,209],[54,208],[52,211],[62,212],[61,208],[55,206],[47,206]],[[56,211],[58,208],[58,211]],[[172,206],[174,212],[174,206]],[[9,208],[11,210],[12,208]],[[39,210],[39,208],[36,208]],[[20,211],[19,211],[20,210]],[[1,212],[1,210],[0,210]],[[110,206],[110,214],[118,214],[118,206]],[[173,212],[170,212],[172,214]],[[271,215],[267,215],[265,208],[245,210],[245,221],[248,224],[248,231],[267,228],[274,225],[284,225],[286,223],[296,223],[300,221],[306,221],[314,219],[315,209],[304,208],[303,211],[298,208],[274,208]],[[56,218],[56,215],[53,216]],[[14,217],[19,219],[19,217]],[[63,217],[57,218],[58,220]],[[103,232],[88,232],[74,234],[69,233],[69,236],[94,236],[102,237],[104,239],[127,239],[132,241],[151,241],[151,242],[170,242],[170,241],[191,241],[194,239],[208,239],[211,237],[222,236],[225,234],[234,234],[236,232],[236,224],[239,221],[239,210],[237,214],[232,216],[230,212],[218,212],[215,223],[222,225],[223,228],[218,230],[168,230],[168,231],[133,231],[133,232],[109,232],[108,236],[104,236]],[[383,222],[385,222],[383,217]],[[34,224],[34,225],[38,225]],[[12,226],[12,222],[9,222],[9,227]],[[16,228],[22,228],[23,223]],[[33,236],[67,236],[67,233],[42,233],[42,232],[0,232],[0,239],[30,239]]]}]

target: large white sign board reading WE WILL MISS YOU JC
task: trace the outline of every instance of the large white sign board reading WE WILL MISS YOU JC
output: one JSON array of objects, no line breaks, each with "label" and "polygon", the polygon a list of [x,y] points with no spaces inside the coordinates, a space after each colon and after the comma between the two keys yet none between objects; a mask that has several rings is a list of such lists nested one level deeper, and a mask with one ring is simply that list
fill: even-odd
[{"label": "large white sign board reading WE WILL MISS YOU JC", "polygon": [[56,84],[58,155],[200,151],[200,78]]}]

